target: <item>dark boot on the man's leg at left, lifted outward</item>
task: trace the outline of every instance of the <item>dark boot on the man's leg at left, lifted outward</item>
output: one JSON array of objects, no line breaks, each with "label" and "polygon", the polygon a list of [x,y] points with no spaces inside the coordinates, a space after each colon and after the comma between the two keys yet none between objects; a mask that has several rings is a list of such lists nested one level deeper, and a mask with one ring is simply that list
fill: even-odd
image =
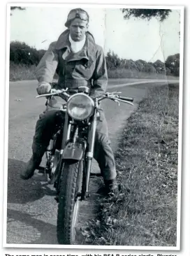
[{"label": "dark boot on the man's leg at left, lifted outward", "polygon": [[33,155],[31,156],[31,159],[29,159],[26,169],[22,170],[20,173],[20,178],[22,178],[22,180],[28,180],[34,176],[34,171],[38,169],[45,153],[45,148],[43,146],[36,147],[36,145],[33,145],[32,149]]}]

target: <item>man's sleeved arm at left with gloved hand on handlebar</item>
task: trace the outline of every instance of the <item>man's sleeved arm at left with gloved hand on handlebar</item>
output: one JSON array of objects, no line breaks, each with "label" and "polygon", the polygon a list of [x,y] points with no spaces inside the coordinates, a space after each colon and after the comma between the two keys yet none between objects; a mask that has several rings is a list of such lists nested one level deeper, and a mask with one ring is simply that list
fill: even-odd
[{"label": "man's sleeved arm at left with gloved hand on handlebar", "polygon": [[38,94],[45,94],[51,90],[54,73],[57,69],[58,55],[54,48],[56,42],[50,44],[48,50],[43,55],[41,61],[36,67],[36,78],[38,80]]}]

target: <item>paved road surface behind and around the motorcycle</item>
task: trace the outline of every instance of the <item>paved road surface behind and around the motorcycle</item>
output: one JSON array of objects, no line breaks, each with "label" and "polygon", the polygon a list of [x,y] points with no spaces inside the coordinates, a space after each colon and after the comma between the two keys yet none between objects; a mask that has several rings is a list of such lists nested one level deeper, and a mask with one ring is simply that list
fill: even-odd
[{"label": "paved road surface behind and around the motorcycle", "polygon": [[[138,81],[140,82],[140,81]],[[148,86],[155,82],[138,83],[137,81],[112,80],[108,91],[119,88],[125,96],[134,98],[134,106],[113,101],[104,101],[103,108],[108,121],[112,149],[117,150],[118,140],[126,119],[138,106],[146,94]],[[162,81],[159,84],[165,83]],[[120,84],[120,85],[119,85]],[[131,84],[131,85],[130,85]],[[118,86],[115,86],[118,85]],[[45,99],[36,99],[36,82],[19,81],[10,83],[9,90],[9,124],[8,124],[8,197],[6,243],[11,244],[57,244],[56,222],[57,202],[52,185],[47,185],[42,174],[35,173],[30,180],[21,180],[19,173],[31,157],[31,143],[38,115],[44,110]],[[93,170],[97,171],[94,162]],[[101,178],[91,180],[92,197],[82,204],[78,228],[77,244],[85,243],[80,234],[80,227],[96,218],[96,190]]]}]

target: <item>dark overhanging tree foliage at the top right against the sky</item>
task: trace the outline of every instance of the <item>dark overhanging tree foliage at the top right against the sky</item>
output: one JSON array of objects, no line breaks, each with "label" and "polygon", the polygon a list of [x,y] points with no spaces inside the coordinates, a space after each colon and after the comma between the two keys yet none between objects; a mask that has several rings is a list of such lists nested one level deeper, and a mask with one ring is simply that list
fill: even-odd
[{"label": "dark overhanging tree foliage at the top right against the sky", "polygon": [[139,17],[143,20],[150,20],[152,17],[156,17],[162,22],[166,20],[170,12],[170,9],[122,9],[126,20],[130,17]]}]

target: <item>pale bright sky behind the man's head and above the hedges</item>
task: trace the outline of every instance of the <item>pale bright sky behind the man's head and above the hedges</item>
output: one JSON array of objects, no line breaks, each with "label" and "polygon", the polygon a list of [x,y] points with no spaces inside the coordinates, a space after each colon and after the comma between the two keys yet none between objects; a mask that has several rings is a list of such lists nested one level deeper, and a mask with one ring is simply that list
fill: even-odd
[{"label": "pale bright sky behind the man's head and above the hedges", "polygon": [[[70,8],[68,8],[70,7]],[[10,41],[21,41],[37,50],[47,49],[66,29],[69,10],[79,6],[27,6],[10,16]],[[81,6],[80,6],[81,8]],[[180,10],[159,22],[130,18],[124,20],[119,8],[84,8],[89,13],[89,31],[105,54],[111,50],[124,59],[162,62],[180,52]]]}]

